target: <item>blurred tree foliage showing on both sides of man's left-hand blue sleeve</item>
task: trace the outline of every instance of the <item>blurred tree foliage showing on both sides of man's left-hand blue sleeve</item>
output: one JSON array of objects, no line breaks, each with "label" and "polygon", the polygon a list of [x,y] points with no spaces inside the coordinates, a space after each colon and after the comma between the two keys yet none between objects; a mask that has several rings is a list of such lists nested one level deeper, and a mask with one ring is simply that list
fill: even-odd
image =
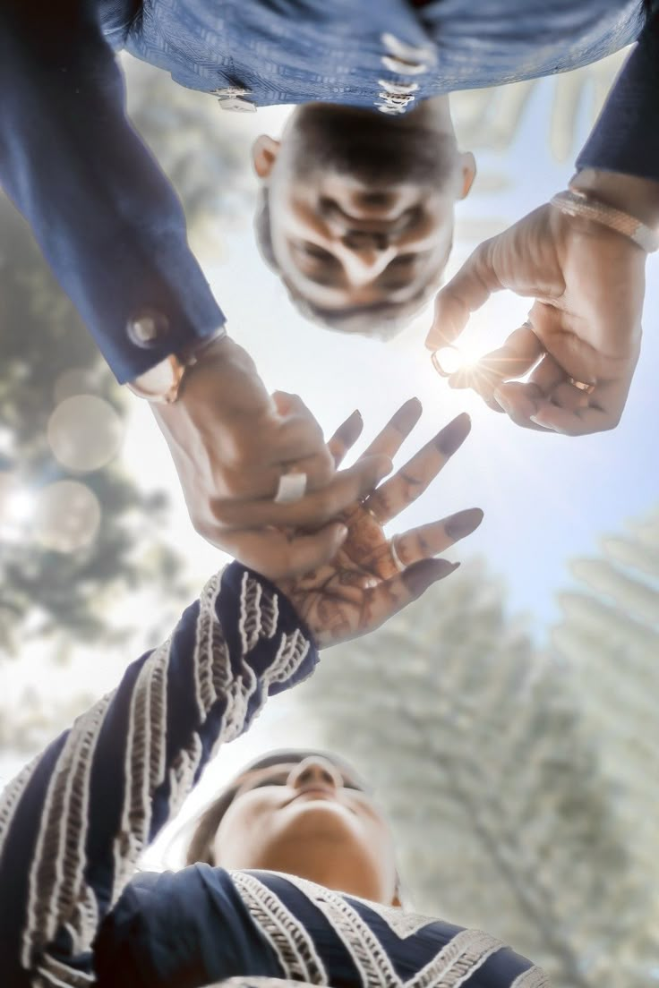
[{"label": "blurred tree foliage showing on both sides of man's left-hand blue sleeve", "polygon": [[[130,73],[135,124],[170,172],[193,227],[222,209],[230,212],[232,193],[242,195],[249,172],[247,137],[236,136],[230,124],[221,131],[212,127],[227,115],[220,115],[213,100],[177,87],[165,73],[136,63]],[[48,436],[48,424],[63,400],[80,394],[104,399],[106,405],[97,405],[105,408],[112,433],[118,424],[121,432],[124,395],[51,277],[27,225],[3,198],[0,324],[0,652],[56,631],[76,641],[112,642],[127,631],[107,617],[118,590],[152,585],[166,590],[167,601],[176,601],[184,592],[181,559],[159,535],[163,495],[142,494],[111,457],[81,473],[53,455],[56,437]],[[75,437],[66,429],[62,435],[62,421],[59,446],[66,452]],[[117,438],[110,436],[111,445]],[[94,435],[90,443],[95,445]],[[75,463],[78,451],[70,453]],[[41,530],[47,529],[43,537],[32,524],[35,505],[18,502],[26,492],[39,495],[61,480],[75,486],[59,485],[41,505],[47,515],[41,519]]]}]

